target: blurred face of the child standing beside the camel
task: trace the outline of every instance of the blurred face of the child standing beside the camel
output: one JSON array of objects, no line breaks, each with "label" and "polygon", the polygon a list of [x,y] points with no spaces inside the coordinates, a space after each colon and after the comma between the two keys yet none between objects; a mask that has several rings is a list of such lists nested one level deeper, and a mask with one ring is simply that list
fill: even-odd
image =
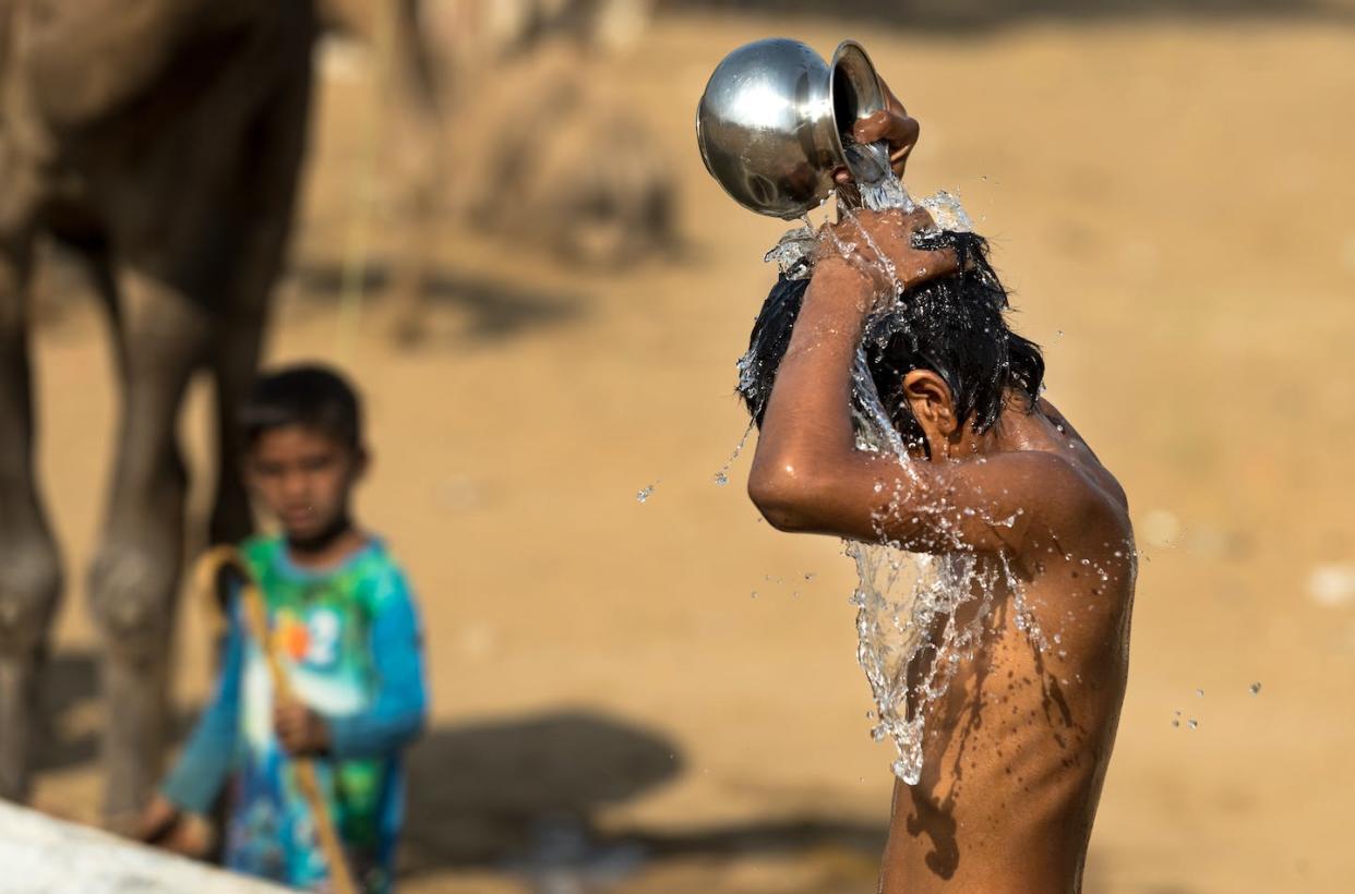
[{"label": "blurred face of the child standing beside the camel", "polygon": [[366,456],[304,425],[263,432],[245,461],[249,486],[293,540],[322,535],[348,512],[348,493]]}]

